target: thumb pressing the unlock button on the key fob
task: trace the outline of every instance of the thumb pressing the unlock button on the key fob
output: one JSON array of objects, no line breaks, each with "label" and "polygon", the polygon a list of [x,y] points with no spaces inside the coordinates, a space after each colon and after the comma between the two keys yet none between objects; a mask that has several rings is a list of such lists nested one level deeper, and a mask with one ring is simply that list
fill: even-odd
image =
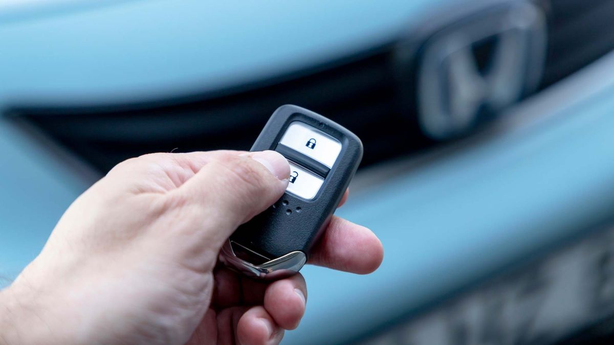
[{"label": "thumb pressing the unlock button on the key fob", "polygon": [[[180,187],[201,209],[220,246],[236,228],[279,200],[290,166],[274,151],[228,153],[214,158]],[[219,239],[219,242],[217,241]]]}]

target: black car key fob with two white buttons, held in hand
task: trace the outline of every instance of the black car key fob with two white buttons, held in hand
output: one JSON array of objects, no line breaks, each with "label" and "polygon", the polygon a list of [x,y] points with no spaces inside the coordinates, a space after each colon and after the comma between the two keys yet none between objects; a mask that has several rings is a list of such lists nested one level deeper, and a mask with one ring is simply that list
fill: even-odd
[{"label": "black car key fob with two white buttons, held in hand", "polygon": [[358,168],[362,142],[322,115],[286,105],[271,115],[251,149],[263,150],[290,163],[286,193],[230,236],[220,261],[247,276],[278,279],[305,265]]}]

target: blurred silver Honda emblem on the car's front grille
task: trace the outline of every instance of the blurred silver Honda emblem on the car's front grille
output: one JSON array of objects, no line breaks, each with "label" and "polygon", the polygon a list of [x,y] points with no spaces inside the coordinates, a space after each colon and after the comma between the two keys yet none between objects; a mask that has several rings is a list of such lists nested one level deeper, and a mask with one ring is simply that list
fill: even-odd
[{"label": "blurred silver Honda emblem on the car's front grille", "polygon": [[482,10],[433,34],[417,71],[418,121],[449,139],[518,101],[539,82],[545,20],[530,2]]}]

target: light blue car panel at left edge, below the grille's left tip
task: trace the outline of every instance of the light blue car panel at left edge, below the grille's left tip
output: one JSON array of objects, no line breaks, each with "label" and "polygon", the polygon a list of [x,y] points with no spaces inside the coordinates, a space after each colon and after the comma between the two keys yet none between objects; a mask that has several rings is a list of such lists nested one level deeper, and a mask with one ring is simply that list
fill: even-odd
[{"label": "light blue car panel at left edge, below the grille's left tip", "polygon": [[[0,287],[34,259],[96,174],[0,118]],[[65,157],[65,158],[62,158]]]}]

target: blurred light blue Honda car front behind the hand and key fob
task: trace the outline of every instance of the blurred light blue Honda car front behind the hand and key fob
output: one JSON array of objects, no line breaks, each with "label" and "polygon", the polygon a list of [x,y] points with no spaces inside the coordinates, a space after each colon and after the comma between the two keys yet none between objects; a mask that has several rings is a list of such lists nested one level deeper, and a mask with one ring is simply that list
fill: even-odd
[{"label": "blurred light blue Honda car front behind the hand and key fob", "polygon": [[284,343],[612,343],[613,1],[4,0],[0,47],[0,287],[119,161],[290,103],[362,139],[385,258],[303,269]]}]

